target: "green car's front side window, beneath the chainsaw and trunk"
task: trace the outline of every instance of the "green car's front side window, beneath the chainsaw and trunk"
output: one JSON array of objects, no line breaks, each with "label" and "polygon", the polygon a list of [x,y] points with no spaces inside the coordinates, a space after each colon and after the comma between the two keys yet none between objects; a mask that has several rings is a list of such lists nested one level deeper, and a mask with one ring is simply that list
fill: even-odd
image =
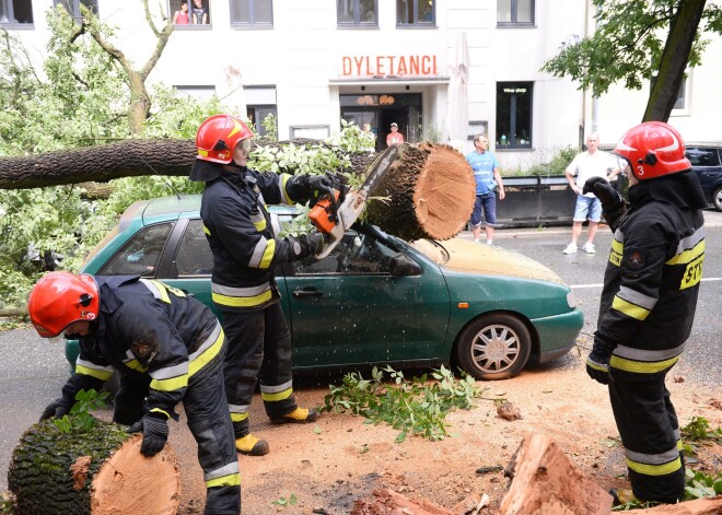
[{"label": "green car's front side window, beneath the chainsaw and trunk", "polygon": [[388,274],[392,257],[396,254],[398,253],[368,234],[348,231],[328,256],[294,261],[293,271],[296,276]]}]

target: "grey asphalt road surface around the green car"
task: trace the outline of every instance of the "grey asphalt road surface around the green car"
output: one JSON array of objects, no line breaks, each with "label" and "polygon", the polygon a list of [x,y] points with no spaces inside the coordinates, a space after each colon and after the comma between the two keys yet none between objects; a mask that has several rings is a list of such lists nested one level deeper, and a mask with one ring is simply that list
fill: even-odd
[{"label": "grey asphalt road surface around the green car", "polygon": [[[706,211],[707,257],[704,279],[692,335],[677,371],[686,381],[719,386],[722,384],[722,317],[717,304],[722,299],[722,213]],[[591,344],[596,327],[602,278],[612,234],[601,227],[596,254],[580,251],[566,256],[570,227],[539,230],[498,230],[494,243],[523,253],[555,270],[573,289],[585,313],[580,344]],[[585,231],[582,238],[585,237]],[[462,233],[470,238],[470,233]],[[584,242],[584,239],[581,239]],[[564,367],[561,358],[544,365]],[[8,490],[8,467],[22,433],[37,422],[45,406],[60,395],[68,376],[62,344],[42,340],[33,330],[0,332],[0,492]]]}]

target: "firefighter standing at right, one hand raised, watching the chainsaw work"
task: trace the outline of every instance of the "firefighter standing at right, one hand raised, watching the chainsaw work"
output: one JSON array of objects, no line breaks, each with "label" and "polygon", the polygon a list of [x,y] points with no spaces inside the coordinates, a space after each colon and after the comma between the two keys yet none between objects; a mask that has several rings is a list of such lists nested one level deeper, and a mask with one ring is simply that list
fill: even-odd
[{"label": "firefighter standing at right, one hand raised, watching the chainsaw work", "polygon": [[685,499],[685,464],[664,381],[695,318],[707,202],[685,143],[667,124],[633,127],[614,153],[625,160],[629,207],[602,177],[584,188],[603,199],[616,227],[586,372],[608,385],[625,447],[631,491],[614,490],[616,502],[676,503]]}]

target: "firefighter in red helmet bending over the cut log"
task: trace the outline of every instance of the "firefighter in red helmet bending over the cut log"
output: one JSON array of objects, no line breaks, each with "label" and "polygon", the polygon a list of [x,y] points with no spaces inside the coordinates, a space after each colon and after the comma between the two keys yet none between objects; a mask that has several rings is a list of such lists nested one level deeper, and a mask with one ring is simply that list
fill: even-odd
[{"label": "firefighter in red helmet bending over the cut log", "polygon": [[[132,276],[93,277],[57,271],[33,288],[27,308],[43,338],[80,341],[75,372],[40,420],[70,412],[80,390],[100,390],[114,371],[147,398],[124,397],[121,381],[114,421],[143,433],[140,452],[165,446],[168,419],[183,402],[198,443],[206,481],[207,514],[241,513],[241,477],[223,388],[225,338],[213,313],[196,299],[160,281]],[[119,420],[120,419],[120,420]]]}]

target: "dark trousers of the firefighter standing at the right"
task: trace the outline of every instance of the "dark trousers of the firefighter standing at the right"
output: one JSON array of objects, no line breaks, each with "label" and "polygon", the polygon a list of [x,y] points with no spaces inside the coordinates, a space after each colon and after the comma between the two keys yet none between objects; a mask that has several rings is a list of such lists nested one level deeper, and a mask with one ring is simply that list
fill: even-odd
[{"label": "dark trousers of the firefighter standing at the right", "polygon": [[625,446],[632,492],[642,501],[683,501],[685,463],[677,413],[664,386],[668,371],[610,371],[609,399]]}]

